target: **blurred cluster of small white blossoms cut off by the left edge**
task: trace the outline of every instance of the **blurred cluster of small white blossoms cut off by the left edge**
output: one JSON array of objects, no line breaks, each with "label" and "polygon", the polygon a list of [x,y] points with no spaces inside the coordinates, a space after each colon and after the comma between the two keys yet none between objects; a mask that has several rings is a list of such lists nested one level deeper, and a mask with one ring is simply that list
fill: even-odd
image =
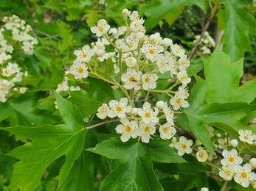
[{"label": "blurred cluster of small white blossoms cut off by the left edge", "polygon": [[21,72],[17,63],[8,61],[15,59],[11,54],[19,49],[25,54],[33,54],[34,45],[38,43],[38,40],[29,35],[32,30],[31,26],[26,25],[26,22],[16,15],[10,18],[4,17],[2,21],[5,24],[0,29],[0,101],[5,102],[10,91],[24,93],[27,90],[26,87],[15,87],[16,82],[21,82],[24,73]]}]

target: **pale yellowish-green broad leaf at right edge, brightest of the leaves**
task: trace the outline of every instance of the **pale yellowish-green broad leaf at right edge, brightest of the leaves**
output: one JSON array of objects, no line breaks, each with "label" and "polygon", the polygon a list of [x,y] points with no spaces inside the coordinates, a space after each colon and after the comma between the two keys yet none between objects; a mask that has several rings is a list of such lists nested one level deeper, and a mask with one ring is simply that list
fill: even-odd
[{"label": "pale yellowish-green broad leaf at right edge, brightest of the leaves", "polygon": [[216,48],[210,60],[204,60],[204,75],[207,81],[205,100],[207,103],[226,103],[230,101],[252,102],[256,97],[256,79],[239,87],[243,76],[243,59],[230,62],[226,55]]}]

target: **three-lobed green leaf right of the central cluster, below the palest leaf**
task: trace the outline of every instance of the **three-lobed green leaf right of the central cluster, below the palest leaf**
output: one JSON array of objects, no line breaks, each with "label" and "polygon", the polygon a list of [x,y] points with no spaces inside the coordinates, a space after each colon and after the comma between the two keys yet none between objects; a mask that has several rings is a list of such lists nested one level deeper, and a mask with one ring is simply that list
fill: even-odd
[{"label": "three-lobed green leaf right of the central cluster, below the palest leaf", "polygon": [[190,107],[183,111],[187,115],[193,134],[213,153],[212,142],[204,125],[210,124],[238,137],[238,129],[243,128],[239,120],[252,109],[252,106],[241,102],[202,105],[206,88],[206,82],[196,83],[189,98]]}]

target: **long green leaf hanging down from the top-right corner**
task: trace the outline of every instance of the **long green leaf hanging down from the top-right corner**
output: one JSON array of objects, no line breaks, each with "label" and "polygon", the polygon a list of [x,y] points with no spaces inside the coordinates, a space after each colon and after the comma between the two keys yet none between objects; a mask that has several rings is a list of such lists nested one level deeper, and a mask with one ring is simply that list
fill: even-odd
[{"label": "long green leaf hanging down from the top-right corner", "polygon": [[255,33],[256,21],[254,15],[246,10],[248,1],[224,1],[223,21],[225,32],[221,43],[225,43],[224,51],[235,62],[243,57],[245,51],[252,52],[248,33]]}]

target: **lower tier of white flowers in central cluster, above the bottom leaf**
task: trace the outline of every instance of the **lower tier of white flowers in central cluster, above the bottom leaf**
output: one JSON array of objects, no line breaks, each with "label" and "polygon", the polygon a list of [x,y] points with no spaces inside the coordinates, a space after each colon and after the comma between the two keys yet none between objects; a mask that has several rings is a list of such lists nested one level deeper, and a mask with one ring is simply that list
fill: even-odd
[{"label": "lower tier of white flowers in central cluster, above the bottom leaf", "polygon": [[[160,103],[162,104],[162,103]],[[159,105],[159,104],[158,104]],[[120,101],[111,100],[108,104],[102,104],[97,109],[97,117],[120,118],[122,124],[116,128],[117,133],[122,134],[122,142],[128,141],[131,137],[140,137],[142,142],[149,143],[151,136],[154,136],[156,129],[159,129],[160,137],[167,140],[176,134],[174,128],[174,112],[164,103],[164,107],[151,107],[151,104],[145,102],[142,108],[132,108],[128,105],[127,98],[121,98]],[[162,112],[161,117],[158,117]],[[160,124],[159,118],[165,118],[166,123]]]}]

